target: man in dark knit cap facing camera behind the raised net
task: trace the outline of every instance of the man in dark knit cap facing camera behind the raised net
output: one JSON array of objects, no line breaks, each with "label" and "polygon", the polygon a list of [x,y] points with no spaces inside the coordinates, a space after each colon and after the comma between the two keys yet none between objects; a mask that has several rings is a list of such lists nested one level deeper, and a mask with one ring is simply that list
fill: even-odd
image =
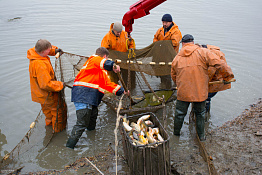
[{"label": "man in dark knit cap facing camera behind the raised net", "polygon": [[173,22],[170,14],[165,14],[162,17],[163,27],[157,30],[154,35],[153,42],[160,40],[171,40],[175,51],[179,51],[179,42],[182,38],[182,34],[178,26]]}]

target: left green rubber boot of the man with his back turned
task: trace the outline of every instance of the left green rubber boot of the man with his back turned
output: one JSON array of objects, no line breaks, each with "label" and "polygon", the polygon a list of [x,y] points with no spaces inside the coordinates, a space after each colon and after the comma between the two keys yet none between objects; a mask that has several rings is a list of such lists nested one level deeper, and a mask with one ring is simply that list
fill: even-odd
[{"label": "left green rubber boot of the man with his back turned", "polygon": [[184,118],[187,114],[187,109],[189,106],[189,102],[183,102],[177,100],[176,102],[176,111],[175,111],[175,119],[174,119],[174,135],[179,136],[180,130],[183,126]]}]

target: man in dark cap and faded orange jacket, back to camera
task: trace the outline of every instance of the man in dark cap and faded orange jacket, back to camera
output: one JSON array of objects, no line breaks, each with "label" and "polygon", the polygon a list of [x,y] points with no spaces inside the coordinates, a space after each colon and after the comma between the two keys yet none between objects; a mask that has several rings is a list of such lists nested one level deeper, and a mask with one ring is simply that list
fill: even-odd
[{"label": "man in dark cap and faded orange jacket, back to camera", "polygon": [[190,103],[196,115],[196,130],[205,140],[205,101],[208,97],[208,68],[220,70],[224,81],[234,78],[231,68],[210,50],[194,44],[190,34],[182,38],[182,48],[171,65],[171,77],[177,85],[174,135],[180,135]]}]

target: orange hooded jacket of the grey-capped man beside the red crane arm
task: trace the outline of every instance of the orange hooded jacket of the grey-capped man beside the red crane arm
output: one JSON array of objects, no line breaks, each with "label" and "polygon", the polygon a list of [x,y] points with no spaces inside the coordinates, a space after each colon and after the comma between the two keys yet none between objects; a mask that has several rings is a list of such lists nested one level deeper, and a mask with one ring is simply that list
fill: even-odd
[{"label": "orange hooded jacket of the grey-capped man beside the red crane arm", "polygon": [[[114,23],[111,24],[109,32],[104,36],[101,47],[105,47],[111,50],[117,50],[119,52],[126,52],[128,49],[134,48],[134,41],[131,42],[128,39],[127,32],[124,30],[121,32],[120,36],[117,37],[113,34]],[[126,48],[126,42],[128,43],[128,49]]]}]

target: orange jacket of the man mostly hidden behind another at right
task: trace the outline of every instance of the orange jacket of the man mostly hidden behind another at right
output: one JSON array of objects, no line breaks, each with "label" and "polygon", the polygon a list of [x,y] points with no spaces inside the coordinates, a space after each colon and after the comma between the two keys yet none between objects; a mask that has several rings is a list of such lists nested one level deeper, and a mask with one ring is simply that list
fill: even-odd
[{"label": "orange jacket of the man mostly hidden behind another at right", "polygon": [[[219,47],[213,46],[213,45],[207,45],[207,48],[211,52],[213,52],[214,54],[219,56],[219,58],[221,60],[226,62],[225,54],[220,51]],[[209,76],[209,81],[221,81],[221,80],[223,80],[223,77],[222,77],[220,71],[216,70],[214,67],[208,68],[208,76]],[[231,83],[230,84],[212,84],[212,85],[209,85],[208,92],[210,92],[210,93],[218,92],[218,91],[223,91],[223,90],[230,89],[230,88],[231,88]]]}]

